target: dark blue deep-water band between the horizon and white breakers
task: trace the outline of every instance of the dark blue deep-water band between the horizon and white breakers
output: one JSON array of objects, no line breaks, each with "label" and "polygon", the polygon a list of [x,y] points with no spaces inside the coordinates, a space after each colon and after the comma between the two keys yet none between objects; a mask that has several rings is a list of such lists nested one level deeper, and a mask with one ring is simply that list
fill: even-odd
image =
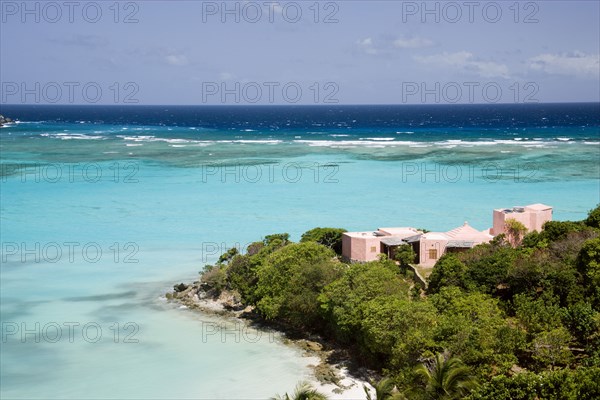
[{"label": "dark blue deep-water band between the horizon and white breakers", "polygon": [[[514,132],[511,130],[516,129],[536,129],[540,134],[545,133],[542,137],[552,138],[552,134],[559,128],[577,129],[579,134],[576,139],[594,138],[594,133],[597,139],[597,128],[600,126],[598,103],[372,106],[2,105],[0,112],[7,116],[18,115],[23,121],[195,127],[208,132],[214,131],[216,134],[202,132],[201,135],[191,135],[196,139],[223,139],[227,138],[225,132],[236,131],[244,132],[247,138],[277,135],[284,139],[307,131],[317,135],[315,138],[326,138],[336,132],[360,137],[364,133],[402,134],[411,130],[415,130],[418,140],[477,140],[487,137],[512,139]],[[586,133],[592,135],[586,136]]]}]

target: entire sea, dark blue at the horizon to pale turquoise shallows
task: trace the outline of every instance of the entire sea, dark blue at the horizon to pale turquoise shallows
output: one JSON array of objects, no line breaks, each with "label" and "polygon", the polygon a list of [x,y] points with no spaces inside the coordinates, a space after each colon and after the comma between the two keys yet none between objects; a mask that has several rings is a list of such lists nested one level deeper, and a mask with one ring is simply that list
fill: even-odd
[{"label": "entire sea, dark blue at the horizon to pale turquoise shallows", "polygon": [[164,293],[271,233],[483,230],[494,208],[600,203],[598,103],[0,114],[17,120],[0,128],[2,398],[283,393],[314,360]]}]

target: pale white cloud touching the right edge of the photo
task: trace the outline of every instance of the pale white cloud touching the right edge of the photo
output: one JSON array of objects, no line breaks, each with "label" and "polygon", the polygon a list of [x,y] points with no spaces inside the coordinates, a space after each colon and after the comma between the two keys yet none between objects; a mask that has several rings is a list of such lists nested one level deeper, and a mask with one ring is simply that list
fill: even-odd
[{"label": "pale white cloud touching the right edge of the photo", "polygon": [[549,74],[600,76],[600,54],[580,51],[561,54],[540,54],[529,59],[529,68]]}]

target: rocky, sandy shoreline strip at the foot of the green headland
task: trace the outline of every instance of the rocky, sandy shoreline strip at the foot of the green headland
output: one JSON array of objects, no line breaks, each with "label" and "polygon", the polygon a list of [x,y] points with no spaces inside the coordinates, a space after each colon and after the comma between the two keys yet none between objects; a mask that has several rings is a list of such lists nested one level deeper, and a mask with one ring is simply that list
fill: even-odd
[{"label": "rocky, sandy shoreline strip at the foot of the green headland", "polygon": [[317,365],[311,365],[314,377],[333,394],[343,395],[346,391],[352,390],[353,396],[356,396],[359,388],[361,397],[364,397],[362,385],[374,377],[373,373],[365,368],[353,368],[351,357],[346,350],[326,342],[321,337],[316,335],[306,337],[298,332],[290,332],[281,325],[268,323],[254,311],[254,307],[244,306],[236,293],[227,290],[215,291],[206,287],[206,284],[196,281],[189,285],[184,283],[175,285],[172,292],[166,293],[166,298],[190,310],[236,318],[251,327],[281,333],[284,344],[301,349],[307,357],[319,359]]}]

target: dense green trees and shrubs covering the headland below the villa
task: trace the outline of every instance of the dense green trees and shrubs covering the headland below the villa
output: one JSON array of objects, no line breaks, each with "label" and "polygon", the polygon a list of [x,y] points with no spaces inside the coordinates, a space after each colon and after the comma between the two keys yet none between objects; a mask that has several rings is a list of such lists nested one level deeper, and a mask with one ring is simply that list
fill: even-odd
[{"label": "dense green trees and shrubs covering the headland below the villa", "polygon": [[[541,233],[513,228],[443,256],[425,291],[405,268],[409,249],[398,263],[348,265],[332,228],[300,243],[267,236],[202,279],[266,320],[350,349],[406,398],[600,398],[600,207]],[[440,389],[442,367],[468,385]]]}]

